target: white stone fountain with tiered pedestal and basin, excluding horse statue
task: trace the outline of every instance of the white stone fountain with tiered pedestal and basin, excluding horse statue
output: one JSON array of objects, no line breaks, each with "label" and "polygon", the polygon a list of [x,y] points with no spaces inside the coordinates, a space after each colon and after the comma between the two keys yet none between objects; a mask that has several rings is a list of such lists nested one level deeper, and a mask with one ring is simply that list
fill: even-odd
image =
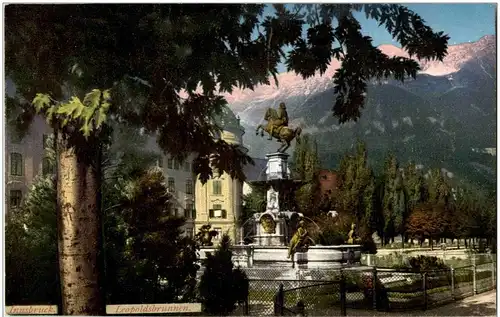
[{"label": "white stone fountain with tiered pedestal and basin, excluding horse statue", "polygon": [[[357,263],[361,258],[360,245],[322,246],[313,245],[306,250],[298,250],[288,257],[290,235],[296,228],[295,219],[303,219],[301,213],[283,210],[280,206],[282,190],[297,187],[302,182],[291,179],[288,168],[288,154],[277,152],[268,154],[266,166],[267,201],[266,211],[253,216],[253,243],[237,248],[249,250],[245,253],[252,257],[252,267],[298,267],[338,268],[347,263]],[[236,252],[235,252],[236,253]],[[296,266],[297,265],[297,266]],[[243,265],[244,266],[244,265]]]}]

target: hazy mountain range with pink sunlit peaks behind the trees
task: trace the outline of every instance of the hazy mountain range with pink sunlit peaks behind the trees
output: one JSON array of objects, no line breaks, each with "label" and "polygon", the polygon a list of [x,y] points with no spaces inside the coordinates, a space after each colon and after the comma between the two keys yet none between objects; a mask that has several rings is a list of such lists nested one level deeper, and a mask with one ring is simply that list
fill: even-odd
[{"label": "hazy mountain range with pink sunlit peaks behind the trees", "polygon": [[[408,57],[392,45],[379,49],[389,56]],[[291,72],[281,73],[279,86],[236,90],[225,97],[241,119],[246,131],[243,141],[253,157],[263,158],[278,148],[275,141],[254,131],[263,123],[265,110],[283,101],[290,126],[301,126],[304,133],[316,137],[327,168],[336,168],[342,155],[360,139],[366,141],[375,169],[381,168],[392,151],[401,162],[411,160],[459,178],[496,184],[495,36],[449,46],[442,62],[418,62],[421,71],[416,79],[370,82],[357,122],[339,124],[332,115],[337,60],[322,76],[303,80]]]}]

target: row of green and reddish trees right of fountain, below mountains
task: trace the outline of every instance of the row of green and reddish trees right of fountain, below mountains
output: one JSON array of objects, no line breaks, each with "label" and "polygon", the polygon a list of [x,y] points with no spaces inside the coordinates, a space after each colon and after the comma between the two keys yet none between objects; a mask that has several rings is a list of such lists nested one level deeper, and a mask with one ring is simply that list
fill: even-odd
[{"label": "row of green and reddish trees right of fountain, below mountains", "polygon": [[392,154],[387,156],[383,173],[368,178],[373,174],[366,155],[362,144],[358,145],[356,154],[345,154],[339,169],[337,210],[357,215],[354,219],[362,224],[360,231],[376,231],[383,243],[398,235],[405,240],[475,237],[486,239],[496,249],[494,193],[451,179],[439,169],[424,173],[412,162],[400,168]]}]

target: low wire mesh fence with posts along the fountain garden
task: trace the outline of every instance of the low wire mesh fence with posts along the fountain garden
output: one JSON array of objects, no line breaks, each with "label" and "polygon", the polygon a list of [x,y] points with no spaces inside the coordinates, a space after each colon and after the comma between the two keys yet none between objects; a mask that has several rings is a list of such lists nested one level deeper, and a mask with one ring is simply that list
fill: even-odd
[{"label": "low wire mesh fence with posts along the fountain garden", "polygon": [[250,280],[245,315],[346,316],[372,311],[427,310],[496,288],[496,264],[412,272],[340,269],[297,279]]}]

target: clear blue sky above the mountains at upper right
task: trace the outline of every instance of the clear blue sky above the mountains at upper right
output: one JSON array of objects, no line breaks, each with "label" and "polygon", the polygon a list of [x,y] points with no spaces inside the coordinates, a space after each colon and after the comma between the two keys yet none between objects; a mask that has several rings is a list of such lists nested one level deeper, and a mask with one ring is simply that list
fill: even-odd
[{"label": "clear blue sky above the mountains at upper right", "polygon": [[[443,31],[450,36],[449,44],[475,42],[485,35],[496,33],[496,3],[405,3],[410,10],[419,14],[434,31]],[[266,8],[266,12],[273,9]],[[373,38],[375,46],[392,44],[391,35],[374,20],[367,20],[363,12],[355,14],[363,33]],[[286,71],[284,65],[279,72]]]}]

